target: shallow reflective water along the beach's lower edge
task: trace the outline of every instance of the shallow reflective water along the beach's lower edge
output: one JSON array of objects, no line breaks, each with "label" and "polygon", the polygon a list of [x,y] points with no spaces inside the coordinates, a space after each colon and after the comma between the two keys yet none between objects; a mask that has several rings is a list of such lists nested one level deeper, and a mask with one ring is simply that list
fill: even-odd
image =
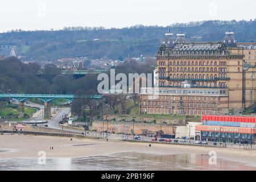
[{"label": "shallow reflective water along the beach's lower edge", "polygon": [[256,170],[246,164],[217,159],[210,165],[208,155],[151,155],[122,152],[108,156],[86,158],[2,158],[0,170]]}]

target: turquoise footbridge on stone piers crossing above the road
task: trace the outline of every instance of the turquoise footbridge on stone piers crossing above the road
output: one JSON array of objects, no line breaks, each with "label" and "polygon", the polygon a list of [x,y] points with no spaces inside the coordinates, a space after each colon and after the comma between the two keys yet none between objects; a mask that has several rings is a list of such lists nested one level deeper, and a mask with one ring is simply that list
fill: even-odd
[{"label": "turquoise footbridge on stone piers crossing above the road", "polygon": [[93,100],[100,100],[102,95],[84,95],[76,96],[73,94],[0,94],[1,98],[11,98],[13,100],[19,101],[19,118],[24,115],[24,102],[30,98],[36,98],[44,102],[44,117],[51,118],[51,101],[58,98],[65,99],[72,102],[75,98],[88,98]]}]

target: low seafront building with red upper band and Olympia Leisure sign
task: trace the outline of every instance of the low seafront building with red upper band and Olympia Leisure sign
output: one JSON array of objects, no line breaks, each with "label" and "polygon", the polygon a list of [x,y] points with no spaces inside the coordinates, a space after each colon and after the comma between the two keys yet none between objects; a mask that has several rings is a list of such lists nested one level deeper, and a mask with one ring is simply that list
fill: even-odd
[{"label": "low seafront building with red upper band and Olympia Leisure sign", "polygon": [[201,140],[233,143],[255,143],[256,116],[201,115],[203,125],[196,126]]}]

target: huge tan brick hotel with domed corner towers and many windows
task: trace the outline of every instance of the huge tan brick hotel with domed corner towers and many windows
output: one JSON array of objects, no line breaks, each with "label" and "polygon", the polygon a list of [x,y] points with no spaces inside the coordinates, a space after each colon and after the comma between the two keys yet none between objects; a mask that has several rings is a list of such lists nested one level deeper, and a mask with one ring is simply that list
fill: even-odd
[{"label": "huge tan brick hotel with domed corner towers and many windows", "polygon": [[255,104],[255,43],[186,42],[168,31],[158,48],[156,85],[141,88],[140,112],[154,114],[242,113]]}]

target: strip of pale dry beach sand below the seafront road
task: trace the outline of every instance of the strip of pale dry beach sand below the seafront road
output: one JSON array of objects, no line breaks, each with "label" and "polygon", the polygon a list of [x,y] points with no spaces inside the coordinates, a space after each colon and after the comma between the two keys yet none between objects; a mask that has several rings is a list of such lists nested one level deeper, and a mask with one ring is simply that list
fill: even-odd
[{"label": "strip of pale dry beach sand below the seafront road", "polygon": [[[53,150],[50,147],[53,146]],[[234,148],[212,148],[202,146],[181,146],[174,144],[151,144],[123,142],[103,139],[77,139],[66,137],[44,137],[32,135],[0,135],[0,159],[38,158],[38,152],[45,151],[47,158],[86,158],[92,156],[116,155],[123,152],[137,152],[150,155],[203,155],[210,151],[217,159],[243,163],[256,169],[256,151]],[[200,164],[199,164],[200,165]]]}]

